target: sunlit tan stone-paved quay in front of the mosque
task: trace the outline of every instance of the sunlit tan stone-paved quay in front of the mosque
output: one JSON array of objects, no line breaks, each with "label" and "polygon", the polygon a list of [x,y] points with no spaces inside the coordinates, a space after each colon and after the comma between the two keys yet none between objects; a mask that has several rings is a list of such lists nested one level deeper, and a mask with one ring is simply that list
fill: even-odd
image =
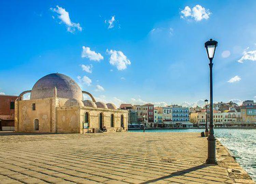
[{"label": "sunlit tan stone-paved quay in front of the mosque", "polygon": [[254,183],[217,142],[206,165],[197,133],[0,136],[0,183]]}]

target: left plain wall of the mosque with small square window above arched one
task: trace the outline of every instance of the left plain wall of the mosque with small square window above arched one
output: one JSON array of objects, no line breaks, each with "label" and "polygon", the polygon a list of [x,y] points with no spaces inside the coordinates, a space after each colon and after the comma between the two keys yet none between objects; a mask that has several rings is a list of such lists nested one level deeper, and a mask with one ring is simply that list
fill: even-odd
[{"label": "left plain wall of the mosque with small square window above arched one", "polygon": [[[51,107],[51,98],[16,101],[15,132],[51,132]],[[35,130],[36,119],[39,130]]]}]

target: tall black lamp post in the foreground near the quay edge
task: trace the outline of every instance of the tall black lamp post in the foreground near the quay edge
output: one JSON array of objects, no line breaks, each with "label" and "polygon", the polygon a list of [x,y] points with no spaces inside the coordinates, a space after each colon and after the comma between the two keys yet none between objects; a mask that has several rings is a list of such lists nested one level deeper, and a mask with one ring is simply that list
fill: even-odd
[{"label": "tall black lamp post in the foreground near the quay edge", "polygon": [[215,147],[216,147],[216,138],[214,136],[213,130],[213,90],[212,90],[212,60],[214,57],[215,49],[217,47],[218,42],[210,39],[209,41],[204,43],[204,47],[206,48],[208,58],[210,60],[209,67],[210,67],[210,131],[208,140],[208,158],[206,160],[207,164],[217,164],[216,161],[216,154],[215,154]]}]

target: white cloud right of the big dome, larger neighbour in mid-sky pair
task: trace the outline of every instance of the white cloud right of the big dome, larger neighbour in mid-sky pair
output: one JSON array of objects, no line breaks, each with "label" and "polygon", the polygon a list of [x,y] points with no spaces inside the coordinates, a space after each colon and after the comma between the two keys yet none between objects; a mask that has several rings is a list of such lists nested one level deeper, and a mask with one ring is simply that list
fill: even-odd
[{"label": "white cloud right of the big dome, larger neighbour in mid-sky pair", "polygon": [[117,70],[125,70],[127,65],[130,65],[130,60],[124,55],[122,51],[108,50],[106,52],[111,55],[109,58],[109,63],[116,66]]}]

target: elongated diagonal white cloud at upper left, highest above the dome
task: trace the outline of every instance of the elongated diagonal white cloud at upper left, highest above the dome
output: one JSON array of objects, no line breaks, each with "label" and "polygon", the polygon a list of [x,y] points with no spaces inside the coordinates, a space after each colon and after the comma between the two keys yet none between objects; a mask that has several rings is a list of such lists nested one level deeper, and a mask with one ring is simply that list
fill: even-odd
[{"label": "elongated diagonal white cloud at upper left, highest above the dome", "polygon": [[[61,20],[60,23],[64,23],[67,26],[67,31],[73,33],[76,29],[82,31],[82,27],[79,23],[72,22],[69,18],[69,13],[62,7],[56,6],[57,8],[50,8],[53,12],[58,14],[58,18]],[[55,18],[53,16],[53,18]]]}]

